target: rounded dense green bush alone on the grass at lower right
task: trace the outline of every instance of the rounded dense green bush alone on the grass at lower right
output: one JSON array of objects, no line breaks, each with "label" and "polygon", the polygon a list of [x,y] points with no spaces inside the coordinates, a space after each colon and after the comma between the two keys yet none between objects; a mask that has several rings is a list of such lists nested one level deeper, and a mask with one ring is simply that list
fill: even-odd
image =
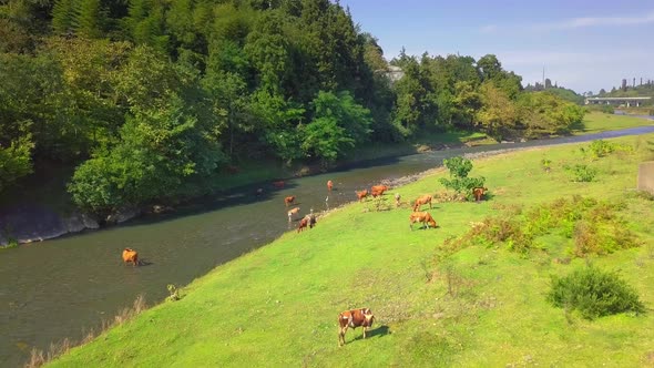
[{"label": "rounded dense green bush alone on the grass at lower right", "polygon": [[556,307],[578,310],[586,319],[645,311],[633,287],[615,273],[595,267],[578,269],[563,278],[552,276],[548,300]]}]

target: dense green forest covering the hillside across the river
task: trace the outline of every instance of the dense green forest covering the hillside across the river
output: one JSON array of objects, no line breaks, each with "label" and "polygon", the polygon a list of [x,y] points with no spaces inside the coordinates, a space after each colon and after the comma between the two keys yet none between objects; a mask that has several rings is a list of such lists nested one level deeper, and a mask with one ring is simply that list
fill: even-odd
[{"label": "dense green forest covering the hillside across the river", "polygon": [[328,0],[3,1],[0,80],[0,191],[74,165],[74,203],[100,215],[211,193],[239,160],[329,165],[425,131],[535,137],[583,117],[492,54],[389,63]]}]

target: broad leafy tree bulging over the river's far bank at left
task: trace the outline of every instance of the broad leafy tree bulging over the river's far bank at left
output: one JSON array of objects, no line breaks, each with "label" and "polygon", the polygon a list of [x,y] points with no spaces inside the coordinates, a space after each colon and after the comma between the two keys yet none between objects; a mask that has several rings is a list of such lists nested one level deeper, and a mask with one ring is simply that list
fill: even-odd
[{"label": "broad leafy tree bulging over the river's far bank at left", "polygon": [[[80,165],[69,184],[75,204],[100,215],[184,194],[188,182],[208,177],[224,160],[184,102],[127,119],[121,141]],[[197,195],[198,193],[195,193]]]}]

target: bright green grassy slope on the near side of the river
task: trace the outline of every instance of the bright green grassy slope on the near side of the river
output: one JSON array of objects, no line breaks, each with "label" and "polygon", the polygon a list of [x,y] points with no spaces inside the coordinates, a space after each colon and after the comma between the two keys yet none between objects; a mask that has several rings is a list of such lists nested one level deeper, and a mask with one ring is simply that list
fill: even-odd
[{"label": "bright green grassy slope on the near side of the river", "polygon": [[[489,201],[436,204],[437,229],[411,232],[408,206],[378,212],[370,201],[336,209],[314,229],[284,234],[215,268],[185,287],[181,300],[142,313],[51,366],[652,365],[654,313],[586,320],[545,299],[551,275],[590,262],[619,272],[654,306],[654,202],[633,191],[637,164],[654,159],[647,140],[654,135],[612,140],[634,151],[597,160],[580,151],[587,143],[476,160],[470,175],[487,177]],[[579,163],[597,170],[593,182],[571,181],[564,166]],[[436,170],[392,192],[405,201],[442,193],[443,174]],[[487,216],[519,219],[574,194],[617,204],[616,216],[640,246],[584,259],[558,229],[535,237],[527,252],[457,242]],[[369,338],[349,330],[339,348],[338,313],[364,306],[377,316]]]}]

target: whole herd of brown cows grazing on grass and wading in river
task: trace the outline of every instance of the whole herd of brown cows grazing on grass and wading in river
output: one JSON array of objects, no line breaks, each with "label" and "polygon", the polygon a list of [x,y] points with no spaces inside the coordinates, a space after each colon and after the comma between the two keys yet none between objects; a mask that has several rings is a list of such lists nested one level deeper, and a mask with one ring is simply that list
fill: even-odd
[{"label": "whole herd of brown cows grazing on grass and wading in river", "polygon": [[[276,188],[284,188],[284,181],[278,181],[278,182],[273,182],[273,186]],[[334,188],[334,183],[331,181],[327,181],[327,191],[331,192],[331,190]],[[370,188],[370,192],[368,192],[368,190],[364,190],[364,191],[356,191],[357,197],[359,200],[359,202],[362,202],[368,194],[370,194],[372,197],[380,197],[384,195],[384,193],[386,191],[388,191],[389,187],[387,185],[374,185]],[[260,194],[263,190],[257,190],[257,194]],[[474,200],[477,202],[481,201],[483,197],[483,194],[486,193],[486,191],[488,191],[488,188],[486,187],[474,187],[472,190],[472,194],[474,196]],[[401,196],[399,193],[395,194],[395,203],[396,203],[396,207],[399,207],[401,205]],[[431,214],[429,214],[428,212],[421,212],[419,209],[421,209],[422,205],[429,205],[429,208],[431,209],[431,201],[432,197],[429,194],[422,195],[420,197],[418,197],[415,202],[413,202],[413,212],[409,215],[409,227],[411,228],[411,231],[413,229],[413,224],[415,223],[421,223],[422,224],[422,228],[436,228],[438,225],[436,224],[436,221],[433,219],[433,217],[431,217]],[[290,196],[286,196],[284,198],[284,204],[286,205],[286,207],[288,207],[289,205],[293,205],[295,203],[295,196],[290,195]],[[288,211],[288,223],[290,224],[293,222],[293,218],[299,214],[299,207],[294,207],[290,211]],[[316,225],[316,215],[314,214],[314,209],[310,209],[310,213],[306,216],[304,216],[300,221],[299,224],[297,226],[297,232],[302,232],[303,229],[309,227],[313,228]],[[125,264],[132,263],[134,266],[140,265],[140,260],[139,260],[139,253],[134,249],[131,248],[125,248],[123,249],[123,262]],[[375,315],[372,314],[372,311],[370,310],[370,308],[358,308],[358,309],[349,309],[349,310],[345,310],[341,311],[338,315],[338,346],[343,346],[345,345],[345,333],[347,333],[348,328],[357,328],[357,327],[362,327],[364,328],[364,338],[366,338],[366,331],[368,331],[370,329],[370,327],[372,326],[372,323],[375,321]]]}]

